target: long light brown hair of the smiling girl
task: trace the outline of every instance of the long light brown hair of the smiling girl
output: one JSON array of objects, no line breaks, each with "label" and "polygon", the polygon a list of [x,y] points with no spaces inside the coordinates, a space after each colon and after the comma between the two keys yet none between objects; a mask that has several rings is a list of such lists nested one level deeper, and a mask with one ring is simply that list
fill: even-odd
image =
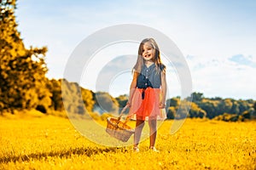
[{"label": "long light brown hair of the smiling girl", "polygon": [[160,73],[160,70],[165,72],[166,67],[162,64],[162,61],[160,59],[159,47],[153,38],[145,38],[140,43],[140,46],[138,48],[138,54],[137,54],[137,62],[133,67],[133,72],[141,73],[141,71],[143,69],[143,64],[145,62],[145,59],[143,59],[143,45],[146,42],[149,42],[152,45],[152,47],[154,48],[154,58],[153,59],[154,59],[154,65],[156,68],[156,72]]}]

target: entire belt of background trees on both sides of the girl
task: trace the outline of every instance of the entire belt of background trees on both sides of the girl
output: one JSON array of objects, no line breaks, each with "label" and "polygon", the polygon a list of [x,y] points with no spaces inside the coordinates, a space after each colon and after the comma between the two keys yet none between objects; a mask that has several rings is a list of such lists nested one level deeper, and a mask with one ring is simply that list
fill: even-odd
[{"label": "entire belt of background trees on both sides of the girl", "polygon": [[[48,71],[45,63],[47,48],[25,47],[17,30],[15,8],[15,0],[1,1],[0,114],[33,109],[49,115],[66,110],[79,115],[86,111],[118,113],[125,106],[126,95],[113,98],[106,92],[92,92],[79,87],[75,82],[45,77]],[[61,86],[65,87],[64,91],[61,91]],[[61,92],[67,95],[62,97]],[[193,100],[189,102],[191,98]],[[67,102],[66,110],[63,101]],[[189,113],[182,108],[178,110],[182,102],[191,105]],[[179,97],[167,99],[167,106],[168,119],[189,116],[236,122],[256,117],[256,101],[253,99],[209,99],[201,93],[193,93],[188,100]]]}]

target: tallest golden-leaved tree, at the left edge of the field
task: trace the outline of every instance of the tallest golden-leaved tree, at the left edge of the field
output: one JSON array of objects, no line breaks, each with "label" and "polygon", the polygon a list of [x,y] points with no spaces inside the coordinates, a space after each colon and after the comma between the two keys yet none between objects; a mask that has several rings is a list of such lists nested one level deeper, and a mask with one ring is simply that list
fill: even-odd
[{"label": "tallest golden-leaved tree, at the left edge of the field", "polygon": [[15,0],[0,6],[0,110],[43,108],[50,93],[44,62],[47,48],[26,49],[15,21]]}]

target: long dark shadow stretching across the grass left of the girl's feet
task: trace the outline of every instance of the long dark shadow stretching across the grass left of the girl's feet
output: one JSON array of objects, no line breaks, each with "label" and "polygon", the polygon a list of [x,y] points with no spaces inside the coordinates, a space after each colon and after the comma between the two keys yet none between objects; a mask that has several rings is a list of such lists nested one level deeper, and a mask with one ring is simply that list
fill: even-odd
[{"label": "long dark shadow stretching across the grass left of the girl's feet", "polygon": [[41,160],[47,159],[48,157],[61,157],[67,158],[73,155],[79,156],[95,156],[97,154],[106,153],[116,153],[118,150],[126,151],[125,148],[74,148],[70,150],[63,150],[63,151],[51,151],[45,153],[32,153],[29,155],[20,155],[20,156],[6,156],[0,157],[0,163],[8,163],[8,162],[15,162],[15,161],[32,161],[32,160]]}]

